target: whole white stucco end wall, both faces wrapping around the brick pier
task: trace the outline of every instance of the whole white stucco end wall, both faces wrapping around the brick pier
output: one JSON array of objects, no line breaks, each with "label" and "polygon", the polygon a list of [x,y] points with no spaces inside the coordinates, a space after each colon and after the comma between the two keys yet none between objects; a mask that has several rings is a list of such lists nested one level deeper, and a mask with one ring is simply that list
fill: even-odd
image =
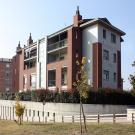
[{"label": "whole white stucco end wall, both faces wrapping around the brick pier", "polygon": [[[103,38],[103,29],[106,30],[106,39]],[[116,35],[116,43],[111,42],[111,33]],[[102,44],[102,87],[117,88],[117,77],[116,81],[113,80],[114,73],[117,76],[117,61],[113,62],[113,54],[117,51],[121,51],[121,42],[120,36],[117,33],[112,32],[111,30],[104,28],[101,25],[93,25],[85,28],[82,32],[82,52],[83,56],[87,58],[87,72],[88,79],[91,84],[93,82],[93,46],[95,42],[100,42]],[[103,51],[109,51],[109,60],[104,60]],[[109,71],[109,80],[104,80],[103,71]]]}]

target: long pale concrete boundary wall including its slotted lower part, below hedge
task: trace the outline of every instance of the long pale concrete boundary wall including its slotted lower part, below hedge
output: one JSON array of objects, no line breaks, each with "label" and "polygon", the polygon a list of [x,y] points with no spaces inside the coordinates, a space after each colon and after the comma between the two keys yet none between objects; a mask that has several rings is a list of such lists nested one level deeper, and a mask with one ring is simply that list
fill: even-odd
[{"label": "long pale concrete boundary wall including its slotted lower part, below hedge", "polygon": [[[79,104],[67,103],[46,103],[21,101],[25,105],[23,120],[31,122],[62,122],[62,121],[79,121]],[[0,100],[0,119],[14,120],[15,116],[15,101]],[[127,108],[133,106],[127,105],[98,105],[84,104],[84,112],[86,119],[95,119],[98,117],[110,118],[115,121],[116,117],[121,117],[121,120],[127,119]],[[120,115],[119,115],[120,114]]]}]

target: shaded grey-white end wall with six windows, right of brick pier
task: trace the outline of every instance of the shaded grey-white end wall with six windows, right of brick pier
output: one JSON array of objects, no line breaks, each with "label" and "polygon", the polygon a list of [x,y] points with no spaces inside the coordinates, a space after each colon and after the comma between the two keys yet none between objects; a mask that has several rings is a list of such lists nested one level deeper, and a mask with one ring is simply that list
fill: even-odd
[{"label": "shaded grey-white end wall with six windows, right of brick pier", "polygon": [[[106,39],[103,38],[103,29],[106,30]],[[116,43],[111,42],[111,33],[116,35]],[[117,77],[116,81],[113,80],[113,74],[116,73],[117,76],[117,61],[116,63],[113,62],[113,54],[116,53],[117,58],[117,51],[121,51],[120,36],[101,25],[98,26],[98,35],[98,42],[102,43],[102,86],[117,88]],[[109,60],[103,58],[104,49],[109,51]],[[104,70],[109,71],[109,80],[104,80]]]}]

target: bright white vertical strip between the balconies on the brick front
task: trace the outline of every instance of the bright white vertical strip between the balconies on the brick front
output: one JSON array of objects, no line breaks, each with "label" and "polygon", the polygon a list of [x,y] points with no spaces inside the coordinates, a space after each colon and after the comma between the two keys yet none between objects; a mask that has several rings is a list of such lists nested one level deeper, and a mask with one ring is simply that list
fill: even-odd
[{"label": "bright white vertical strip between the balconies on the brick front", "polygon": [[47,37],[38,40],[37,45],[37,89],[46,89]]}]

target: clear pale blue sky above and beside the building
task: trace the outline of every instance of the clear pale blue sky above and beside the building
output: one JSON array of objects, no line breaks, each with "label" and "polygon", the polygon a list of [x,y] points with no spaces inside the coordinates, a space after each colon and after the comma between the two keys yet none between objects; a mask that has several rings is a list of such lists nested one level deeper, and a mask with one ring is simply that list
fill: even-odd
[{"label": "clear pale blue sky above and beside the building", "polygon": [[83,18],[107,17],[126,35],[121,46],[124,89],[131,88],[134,73],[134,0],[0,0],[0,58],[12,58],[18,42],[27,43],[29,33],[36,41],[72,23],[76,7]]}]

